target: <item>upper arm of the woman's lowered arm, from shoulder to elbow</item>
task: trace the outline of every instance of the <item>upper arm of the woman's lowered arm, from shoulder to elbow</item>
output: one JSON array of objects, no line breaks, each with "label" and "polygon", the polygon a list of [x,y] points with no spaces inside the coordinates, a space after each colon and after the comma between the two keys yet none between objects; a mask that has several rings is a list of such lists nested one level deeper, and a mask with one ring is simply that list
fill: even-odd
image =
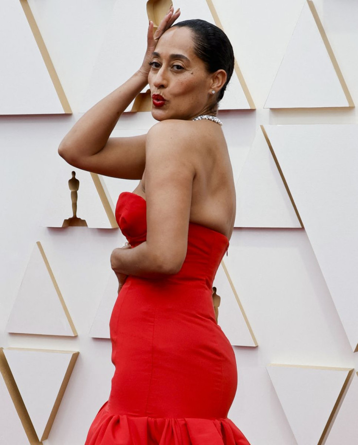
[{"label": "upper arm of the woman's lowered arm, from shoulder to elbow", "polygon": [[185,259],[195,176],[190,135],[182,121],[165,121],[146,141],[147,244],[161,261],[180,269]]}]

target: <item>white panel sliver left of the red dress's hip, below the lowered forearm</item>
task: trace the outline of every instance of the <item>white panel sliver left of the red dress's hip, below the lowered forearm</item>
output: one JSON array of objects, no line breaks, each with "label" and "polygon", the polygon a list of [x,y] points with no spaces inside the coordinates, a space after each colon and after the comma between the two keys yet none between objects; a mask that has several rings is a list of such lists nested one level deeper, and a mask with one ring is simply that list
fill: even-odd
[{"label": "white panel sliver left of the red dress's hip, below the lowered forearm", "polygon": [[98,306],[96,316],[93,320],[90,336],[94,338],[110,338],[109,320],[114,303],[118,297],[118,279],[111,273],[102,300]]}]

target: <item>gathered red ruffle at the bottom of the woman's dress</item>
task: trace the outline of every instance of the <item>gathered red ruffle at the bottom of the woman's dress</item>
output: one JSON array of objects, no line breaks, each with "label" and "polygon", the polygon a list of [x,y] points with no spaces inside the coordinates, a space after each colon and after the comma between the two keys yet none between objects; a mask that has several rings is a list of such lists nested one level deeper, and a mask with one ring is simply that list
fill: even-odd
[{"label": "gathered red ruffle at the bottom of the woman's dress", "polygon": [[111,414],[106,402],[85,445],[250,445],[228,418],[157,418]]}]

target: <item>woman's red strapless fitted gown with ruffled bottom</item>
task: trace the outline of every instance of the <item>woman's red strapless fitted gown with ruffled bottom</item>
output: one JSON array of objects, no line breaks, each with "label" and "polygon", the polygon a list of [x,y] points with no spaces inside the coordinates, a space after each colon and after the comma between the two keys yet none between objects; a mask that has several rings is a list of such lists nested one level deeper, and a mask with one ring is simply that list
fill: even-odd
[{"label": "woman's red strapless fitted gown with ruffled bottom", "polygon": [[[132,246],[145,241],[141,196],[121,193],[116,219]],[[189,223],[179,273],[126,279],[109,323],[111,392],[85,445],[250,445],[227,418],[236,362],[212,302],[228,246],[221,233]]]}]

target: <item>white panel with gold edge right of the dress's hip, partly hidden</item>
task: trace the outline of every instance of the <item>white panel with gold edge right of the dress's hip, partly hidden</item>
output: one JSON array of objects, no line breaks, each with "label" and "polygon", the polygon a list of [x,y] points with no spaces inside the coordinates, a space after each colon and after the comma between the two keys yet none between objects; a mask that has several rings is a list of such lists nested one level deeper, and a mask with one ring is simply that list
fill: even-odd
[{"label": "white panel with gold edge right of the dress's hip, partly hidden", "polygon": [[225,264],[221,262],[213,286],[220,297],[217,323],[234,346],[257,346],[246,315],[242,312],[233,285],[229,281]]}]

